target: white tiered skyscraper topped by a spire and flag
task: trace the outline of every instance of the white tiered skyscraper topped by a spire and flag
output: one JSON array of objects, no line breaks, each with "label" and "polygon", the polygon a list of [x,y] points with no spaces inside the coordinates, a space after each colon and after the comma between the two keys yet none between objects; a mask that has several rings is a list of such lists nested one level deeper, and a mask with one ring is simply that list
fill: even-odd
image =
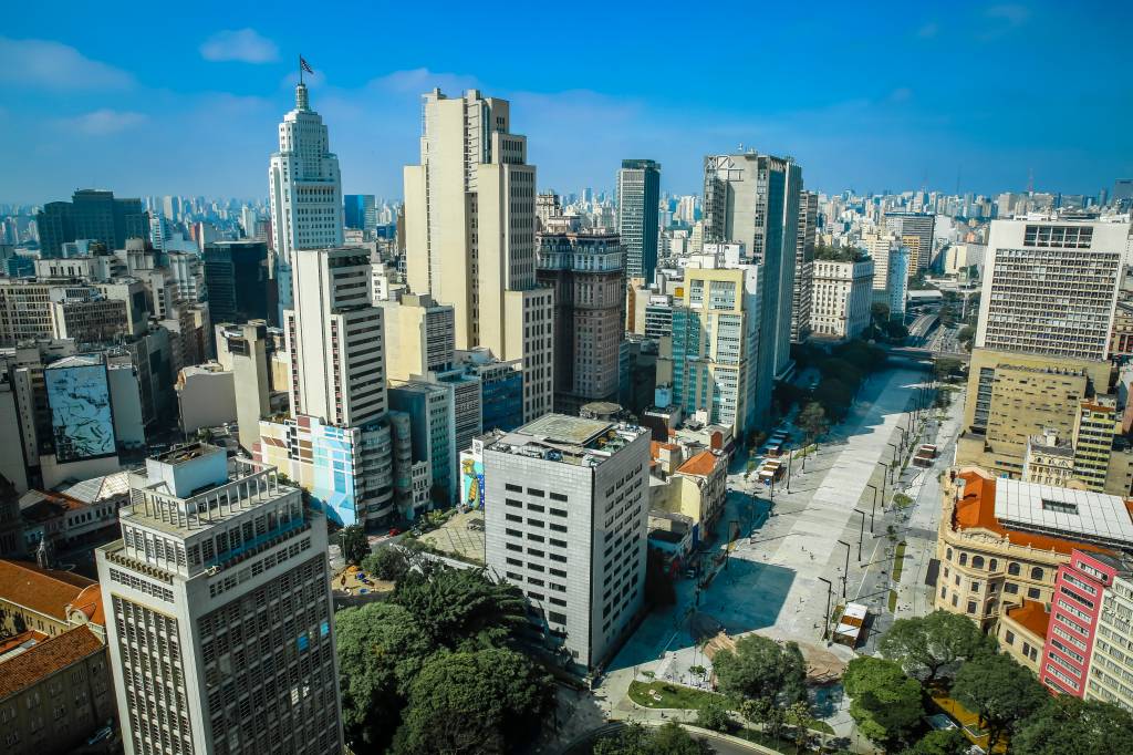
[{"label": "white tiered skyscraper topped by a spire and flag", "polygon": [[295,87],[295,110],[280,124],[280,150],[267,169],[274,256],[271,266],[282,312],[292,306],[291,270],[299,249],[342,246],[342,178],[323,117],[307,86]]}]

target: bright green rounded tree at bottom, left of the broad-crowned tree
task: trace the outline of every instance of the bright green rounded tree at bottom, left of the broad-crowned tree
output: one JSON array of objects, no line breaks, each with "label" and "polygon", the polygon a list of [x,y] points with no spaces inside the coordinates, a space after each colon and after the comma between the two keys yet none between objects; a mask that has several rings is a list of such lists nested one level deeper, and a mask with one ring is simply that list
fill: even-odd
[{"label": "bright green rounded tree at bottom, left of the broad-crowned tree", "polygon": [[850,661],[842,685],[850,695],[850,715],[858,730],[893,748],[915,730],[925,715],[921,686],[895,661],[862,655]]}]

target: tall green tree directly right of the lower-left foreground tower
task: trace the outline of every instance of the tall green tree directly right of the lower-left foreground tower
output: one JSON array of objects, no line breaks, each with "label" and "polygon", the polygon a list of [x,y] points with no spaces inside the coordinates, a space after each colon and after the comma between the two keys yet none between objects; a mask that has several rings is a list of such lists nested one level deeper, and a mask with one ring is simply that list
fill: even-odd
[{"label": "tall green tree directly right of the lower-left foreground tower", "polygon": [[404,707],[408,682],[433,652],[412,616],[392,603],[334,614],[342,724],[356,752],[383,752]]}]

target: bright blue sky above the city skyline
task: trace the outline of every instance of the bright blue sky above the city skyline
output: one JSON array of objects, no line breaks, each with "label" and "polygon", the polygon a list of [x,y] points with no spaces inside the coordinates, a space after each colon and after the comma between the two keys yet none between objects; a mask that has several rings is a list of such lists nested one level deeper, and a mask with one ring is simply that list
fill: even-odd
[{"label": "bright blue sky above the city skyline", "polygon": [[299,51],[347,193],[401,194],[419,95],[512,101],[540,188],[622,158],[790,154],[819,190],[1133,176],[1128,2],[22,3],[0,29],[0,202],[266,194]]}]

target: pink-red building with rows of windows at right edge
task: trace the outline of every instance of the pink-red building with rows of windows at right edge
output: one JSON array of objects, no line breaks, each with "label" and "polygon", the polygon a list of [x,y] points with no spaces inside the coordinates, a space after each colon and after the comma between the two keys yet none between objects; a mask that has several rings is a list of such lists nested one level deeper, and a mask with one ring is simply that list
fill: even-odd
[{"label": "pink-red building with rows of windows at right edge", "polygon": [[1039,663],[1039,680],[1053,693],[1082,697],[1090,670],[1098,614],[1122,562],[1102,553],[1075,550],[1058,567],[1050,599],[1050,622]]}]

